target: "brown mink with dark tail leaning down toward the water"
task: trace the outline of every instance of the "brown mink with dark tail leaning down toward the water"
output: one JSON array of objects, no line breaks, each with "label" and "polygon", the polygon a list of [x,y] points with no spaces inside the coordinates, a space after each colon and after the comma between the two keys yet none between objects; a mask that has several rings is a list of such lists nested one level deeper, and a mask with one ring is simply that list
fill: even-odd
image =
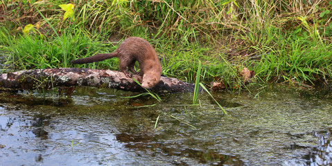
[{"label": "brown mink with dark tail leaning down toward the water", "polygon": [[[140,74],[143,77],[141,85],[143,88],[149,89],[158,84],[161,77],[161,64],[155,49],[148,41],[141,37],[129,37],[125,39],[113,53],[97,54],[91,57],[75,59],[71,61],[71,64],[99,62],[112,57],[119,58],[120,70],[127,77],[132,77],[128,69],[132,73]],[[136,61],[139,62],[139,68],[141,68],[139,73],[134,70]]]}]

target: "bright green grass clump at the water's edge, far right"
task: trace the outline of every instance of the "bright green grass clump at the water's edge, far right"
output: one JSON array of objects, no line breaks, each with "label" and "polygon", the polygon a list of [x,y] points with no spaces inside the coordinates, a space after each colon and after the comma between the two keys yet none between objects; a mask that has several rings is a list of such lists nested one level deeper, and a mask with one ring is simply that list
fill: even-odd
[{"label": "bright green grass clump at the water's edge, far right", "polygon": [[261,56],[254,65],[256,73],[263,80],[311,82],[320,77],[332,77],[332,45],[324,42],[311,42],[310,37],[287,34],[276,38],[276,50]]}]

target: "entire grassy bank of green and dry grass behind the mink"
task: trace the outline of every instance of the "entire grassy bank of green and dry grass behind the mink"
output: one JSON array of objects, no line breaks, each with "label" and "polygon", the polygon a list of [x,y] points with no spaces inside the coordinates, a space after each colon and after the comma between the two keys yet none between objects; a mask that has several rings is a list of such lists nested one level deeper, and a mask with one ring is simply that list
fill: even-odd
[{"label": "entire grassy bank of green and dry grass behind the mink", "polygon": [[[162,74],[195,82],[222,80],[242,89],[239,71],[256,80],[313,85],[332,77],[332,1],[71,1],[75,21],[62,19],[65,1],[3,1],[0,49],[15,70],[85,67],[119,69],[117,59],[71,65],[109,53],[109,38],[139,36],[155,46]],[[38,12],[40,10],[40,12]],[[27,24],[33,32],[22,35]],[[54,29],[54,30],[53,30]]]}]

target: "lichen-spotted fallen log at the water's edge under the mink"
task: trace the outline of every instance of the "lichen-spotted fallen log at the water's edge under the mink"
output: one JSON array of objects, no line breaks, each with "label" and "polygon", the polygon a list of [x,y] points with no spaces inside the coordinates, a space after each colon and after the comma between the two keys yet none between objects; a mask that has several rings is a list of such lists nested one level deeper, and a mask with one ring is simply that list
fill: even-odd
[{"label": "lichen-spotted fallen log at the water's edge under the mink", "polygon": [[[141,82],[140,75],[133,78]],[[46,68],[3,73],[0,75],[2,90],[53,89],[55,86],[96,86],[123,91],[145,91],[132,78],[120,71],[91,68]],[[151,91],[155,93],[193,92],[194,84],[188,84],[171,77],[161,77]]]}]

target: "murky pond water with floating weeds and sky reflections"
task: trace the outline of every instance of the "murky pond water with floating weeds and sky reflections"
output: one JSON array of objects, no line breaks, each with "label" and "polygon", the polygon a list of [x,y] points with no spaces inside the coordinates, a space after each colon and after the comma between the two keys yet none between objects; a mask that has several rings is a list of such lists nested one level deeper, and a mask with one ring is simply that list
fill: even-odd
[{"label": "murky pond water with floating weeds and sky reflections", "polygon": [[331,93],[251,89],[213,93],[228,116],[206,93],[2,93],[0,165],[331,165]]}]

